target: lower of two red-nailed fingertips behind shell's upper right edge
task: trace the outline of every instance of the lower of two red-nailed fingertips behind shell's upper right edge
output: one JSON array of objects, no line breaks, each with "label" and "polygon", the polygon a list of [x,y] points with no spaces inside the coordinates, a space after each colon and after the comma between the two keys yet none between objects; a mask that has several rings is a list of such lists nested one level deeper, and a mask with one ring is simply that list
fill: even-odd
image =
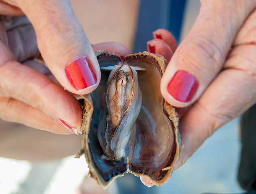
[{"label": "lower of two red-nailed fingertips behind shell's upper right edge", "polygon": [[147,50],[150,53],[157,53],[165,57],[165,59],[169,62],[173,55],[173,51],[171,47],[161,39],[153,39],[147,42]]}]

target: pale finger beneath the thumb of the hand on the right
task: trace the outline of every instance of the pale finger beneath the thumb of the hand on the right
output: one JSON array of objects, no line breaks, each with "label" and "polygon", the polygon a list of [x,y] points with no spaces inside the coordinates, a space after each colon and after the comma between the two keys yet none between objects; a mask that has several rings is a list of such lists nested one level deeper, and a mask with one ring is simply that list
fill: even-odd
[{"label": "pale finger beneath the thumb of the hand on the right", "polygon": [[254,44],[233,48],[224,70],[181,118],[179,128],[184,149],[175,168],[184,164],[216,129],[256,103],[255,52]]}]

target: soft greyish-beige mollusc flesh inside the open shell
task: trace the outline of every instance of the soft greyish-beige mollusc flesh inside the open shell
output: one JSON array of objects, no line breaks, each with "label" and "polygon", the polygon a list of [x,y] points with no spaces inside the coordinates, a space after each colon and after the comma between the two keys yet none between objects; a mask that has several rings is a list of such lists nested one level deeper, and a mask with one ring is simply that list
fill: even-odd
[{"label": "soft greyish-beige mollusc flesh inside the open shell", "polygon": [[125,157],[125,148],[141,103],[137,72],[128,64],[114,68],[108,77],[105,107],[97,129],[104,156],[117,161]]}]

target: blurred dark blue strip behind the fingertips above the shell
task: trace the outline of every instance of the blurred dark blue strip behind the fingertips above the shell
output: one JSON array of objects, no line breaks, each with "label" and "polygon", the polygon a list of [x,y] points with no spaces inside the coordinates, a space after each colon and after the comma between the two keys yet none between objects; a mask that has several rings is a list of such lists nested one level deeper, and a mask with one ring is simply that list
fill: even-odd
[{"label": "blurred dark blue strip behind the fingertips above the shell", "polygon": [[146,42],[158,28],[169,30],[178,42],[185,4],[186,0],[141,0],[132,53],[146,51]]}]

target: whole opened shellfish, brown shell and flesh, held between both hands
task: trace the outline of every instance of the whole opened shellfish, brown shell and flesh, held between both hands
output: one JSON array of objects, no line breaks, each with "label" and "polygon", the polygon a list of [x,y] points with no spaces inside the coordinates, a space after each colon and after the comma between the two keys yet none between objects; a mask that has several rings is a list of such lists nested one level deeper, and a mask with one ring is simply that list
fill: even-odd
[{"label": "whole opened shellfish, brown shell and flesh, held between both hands", "polygon": [[[123,60],[107,51],[95,54],[101,68],[116,68],[102,70],[97,89],[84,96],[82,152],[89,174],[103,187],[125,172],[161,186],[180,154],[178,118],[160,92],[166,60],[147,52]],[[146,71],[137,75],[134,66]]]}]

